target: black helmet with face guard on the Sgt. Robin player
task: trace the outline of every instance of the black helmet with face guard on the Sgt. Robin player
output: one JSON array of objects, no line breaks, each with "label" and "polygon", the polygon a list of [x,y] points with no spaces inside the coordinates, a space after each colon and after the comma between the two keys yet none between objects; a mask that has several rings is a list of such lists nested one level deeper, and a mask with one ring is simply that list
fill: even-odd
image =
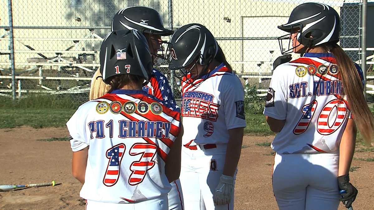
[{"label": "black helmet with face guard on the Sgt. Robin player", "polygon": [[[323,43],[337,43],[340,33],[340,18],[334,8],[322,3],[304,3],[292,10],[288,23],[278,26],[288,33],[297,31],[297,39],[306,47]],[[292,51],[297,46],[283,52],[281,41],[289,34],[278,38],[282,54]],[[311,38],[312,37],[312,38]]]}]

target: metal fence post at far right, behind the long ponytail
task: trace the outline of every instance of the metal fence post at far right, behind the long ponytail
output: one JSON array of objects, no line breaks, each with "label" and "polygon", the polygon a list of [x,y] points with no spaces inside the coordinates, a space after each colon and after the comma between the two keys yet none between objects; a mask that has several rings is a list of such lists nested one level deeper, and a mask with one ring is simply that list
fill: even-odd
[{"label": "metal fence post at far right, behind the long ponytail", "polygon": [[361,9],[361,68],[364,73],[364,95],[366,99],[366,18],[368,0],[362,0]]}]

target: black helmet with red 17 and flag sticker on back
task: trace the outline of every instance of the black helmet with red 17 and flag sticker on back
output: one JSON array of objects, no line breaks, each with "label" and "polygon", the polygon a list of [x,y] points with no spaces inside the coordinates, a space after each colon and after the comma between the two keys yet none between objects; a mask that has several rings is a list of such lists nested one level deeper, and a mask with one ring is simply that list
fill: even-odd
[{"label": "black helmet with red 17 and flag sticker on back", "polygon": [[100,73],[106,84],[111,77],[132,74],[149,80],[152,58],[145,37],[136,30],[111,31],[101,44]]}]

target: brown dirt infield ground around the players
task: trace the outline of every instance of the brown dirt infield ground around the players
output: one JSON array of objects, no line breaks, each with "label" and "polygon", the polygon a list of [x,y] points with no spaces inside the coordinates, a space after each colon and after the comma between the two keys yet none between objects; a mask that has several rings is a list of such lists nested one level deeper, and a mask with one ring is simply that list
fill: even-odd
[{"label": "brown dirt infield ground around the players", "polygon": [[[79,197],[81,184],[71,176],[71,150],[68,141],[39,141],[39,139],[68,136],[67,129],[33,129],[20,127],[0,129],[0,185],[50,182],[57,186],[0,192],[0,209],[84,209]],[[245,136],[239,172],[235,186],[235,209],[277,209],[272,192],[273,154],[269,146],[256,143],[271,142],[273,136]],[[266,145],[266,144],[265,144]],[[359,195],[355,210],[374,209],[373,151],[361,145],[355,153],[350,173]],[[361,159],[361,160],[359,160]],[[343,205],[340,205],[343,210]]]}]

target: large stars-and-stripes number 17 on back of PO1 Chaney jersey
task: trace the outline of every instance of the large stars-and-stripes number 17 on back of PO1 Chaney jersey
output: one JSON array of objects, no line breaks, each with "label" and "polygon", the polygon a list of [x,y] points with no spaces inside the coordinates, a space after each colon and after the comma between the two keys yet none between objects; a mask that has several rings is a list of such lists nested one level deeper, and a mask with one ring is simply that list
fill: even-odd
[{"label": "large stars-and-stripes number 17 on back of PO1 Chaney jersey", "polygon": [[[109,148],[106,152],[106,158],[109,159],[107,170],[105,171],[102,182],[105,186],[113,186],[117,183],[120,175],[121,161],[126,151],[124,143],[117,144]],[[144,180],[145,174],[154,166],[154,155],[157,146],[150,143],[134,143],[129,155],[141,155],[139,161],[134,161],[130,165],[131,175],[129,176],[129,185],[137,185]]]}]

